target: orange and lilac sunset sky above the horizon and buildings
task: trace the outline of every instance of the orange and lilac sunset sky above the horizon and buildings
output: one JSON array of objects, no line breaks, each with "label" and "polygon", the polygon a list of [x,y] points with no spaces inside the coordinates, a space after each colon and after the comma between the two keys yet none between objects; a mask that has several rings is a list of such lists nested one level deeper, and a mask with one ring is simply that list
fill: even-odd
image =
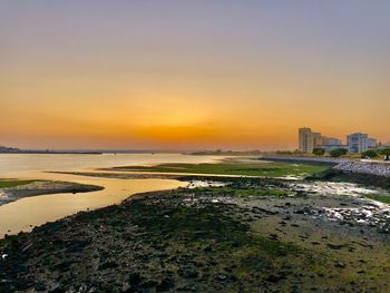
[{"label": "orange and lilac sunset sky above the horizon and buildings", "polygon": [[0,1],[0,145],[390,141],[388,0]]}]

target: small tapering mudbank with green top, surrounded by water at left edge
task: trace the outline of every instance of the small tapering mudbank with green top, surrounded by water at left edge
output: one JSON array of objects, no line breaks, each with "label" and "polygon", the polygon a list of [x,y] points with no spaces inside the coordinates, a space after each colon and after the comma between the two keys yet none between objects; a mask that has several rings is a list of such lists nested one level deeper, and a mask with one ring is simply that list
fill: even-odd
[{"label": "small tapering mudbank with green top, surrounded by water at left edge", "polygon": [[59,193],[88,193],[101,191],[103,188],[101,186],[70,182],[35,180],[26,185],[0,188],[0,205],[27,196]]}]

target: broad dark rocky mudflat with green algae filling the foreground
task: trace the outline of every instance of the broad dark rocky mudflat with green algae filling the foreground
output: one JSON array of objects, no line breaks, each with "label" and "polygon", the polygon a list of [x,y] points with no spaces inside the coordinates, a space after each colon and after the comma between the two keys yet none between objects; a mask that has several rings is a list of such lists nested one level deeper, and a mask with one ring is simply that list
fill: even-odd
[{"label": "broad dark rocky mudflat with green algae filling the foreground", "polygon": [[6,237],[0,292],[390,291],[390,212],[363,196],[381,191],[213,180]]}]

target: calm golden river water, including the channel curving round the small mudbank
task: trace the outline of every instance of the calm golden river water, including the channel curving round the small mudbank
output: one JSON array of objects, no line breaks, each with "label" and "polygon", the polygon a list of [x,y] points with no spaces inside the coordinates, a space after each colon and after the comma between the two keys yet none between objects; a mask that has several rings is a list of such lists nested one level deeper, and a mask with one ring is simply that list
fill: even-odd
[{"label": "calm golden river water, including the channel curving round the small mudbank", "polygon": [[69,216],[80,211],[118,204],[136,193],[185,186],[172,179],[114,179],[46,173],[49,170],[92,170],[101,167],[155,165],[159,163],[205,163],[216,156],[182,154],[119,155],[11,155],[0,154],[0,178],[67,180],[104,186],[104,191],[80,194],[53,194],[26,197],[0,206],[0,237]]}]

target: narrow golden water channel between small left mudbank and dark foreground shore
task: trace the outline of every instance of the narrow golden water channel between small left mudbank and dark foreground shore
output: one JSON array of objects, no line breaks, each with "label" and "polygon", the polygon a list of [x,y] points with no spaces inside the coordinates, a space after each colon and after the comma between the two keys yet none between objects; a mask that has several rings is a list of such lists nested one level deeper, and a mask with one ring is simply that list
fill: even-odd
[{"label": "narrow golden water channel between small left mudbank and dark foreground shore", "polygon": [[[76,180],[74,180],[76,182]],[[79,182],[79,180],[77,180]],[[89,182],[90,183],[90,182]],[[99,184],[99,180],[94,180]],[[173,189],[185,183],[168,179],[103,179],[104,191],[32,196],[0,207],[0,237],[56,221],[79,211],[118,204],[131,194]]]}]

